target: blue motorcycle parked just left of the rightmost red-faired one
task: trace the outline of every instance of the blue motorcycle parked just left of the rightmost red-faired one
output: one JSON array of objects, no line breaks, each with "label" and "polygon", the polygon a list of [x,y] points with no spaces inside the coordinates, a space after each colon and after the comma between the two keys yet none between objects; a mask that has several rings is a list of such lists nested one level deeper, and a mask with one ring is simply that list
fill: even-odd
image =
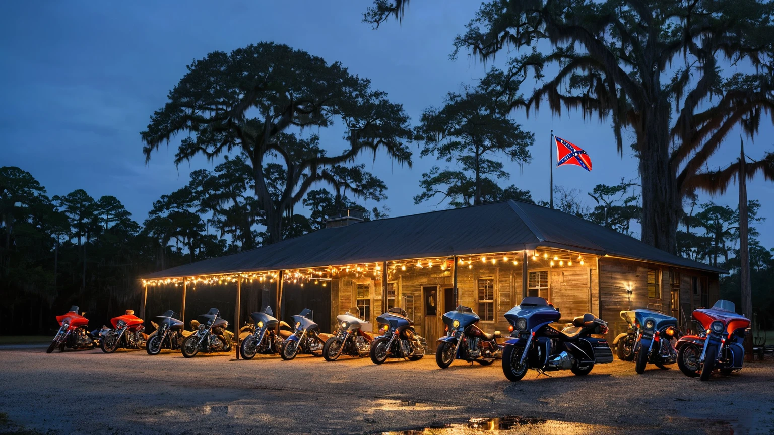
[{"label": "blue motorcycle parked just left of the rightmost red-faired one", "polygon": [[645,308],[627,311],[626,316],[634,317],[637,331],[632,347],[635,372],[645,372],[649,362],[662,370],[668,369],[666,365],[677,362],[675,345],[680,331],[676,318]]}]

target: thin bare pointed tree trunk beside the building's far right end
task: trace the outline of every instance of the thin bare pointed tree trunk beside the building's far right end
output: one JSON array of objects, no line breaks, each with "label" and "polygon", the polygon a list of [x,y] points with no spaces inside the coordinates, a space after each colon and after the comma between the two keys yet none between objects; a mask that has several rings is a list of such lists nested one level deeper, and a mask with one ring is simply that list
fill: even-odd
[{"label": "thin bare pointed tree trunk beside the building's far right end", "polygon": [[[752,320],[752,284],[750,283],[750,248],[748,244],[747,163],[745,144],[739,152],[739,283],[741,313]],[[752,360],[752,334],[745,338],[745,358]]]}]

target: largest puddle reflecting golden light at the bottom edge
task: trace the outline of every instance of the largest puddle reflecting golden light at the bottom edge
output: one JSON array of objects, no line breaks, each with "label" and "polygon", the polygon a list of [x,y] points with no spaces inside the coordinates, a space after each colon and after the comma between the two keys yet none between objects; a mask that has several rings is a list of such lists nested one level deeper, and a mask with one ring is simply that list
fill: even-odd
[{"label": "largest puddle reflecting golden light at the bottom edge", "polygon": [[383,435],[474,435],[478,433],[528,433],[535,435],[573,435],[587,433],[620,433],[621,428],[598,424],[545,420],[522,416],[504,416],[493,419],[474,418],[466,423],[428,426],[419,429],[383,432]]}]

